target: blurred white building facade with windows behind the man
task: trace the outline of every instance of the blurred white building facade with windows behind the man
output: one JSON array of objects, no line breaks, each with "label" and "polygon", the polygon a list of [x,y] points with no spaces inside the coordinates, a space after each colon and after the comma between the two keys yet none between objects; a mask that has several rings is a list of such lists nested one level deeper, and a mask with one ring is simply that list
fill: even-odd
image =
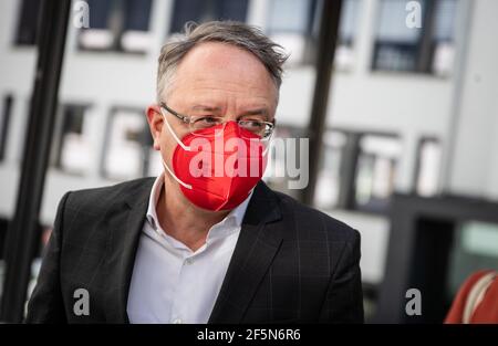
[{"label": "blurred white building facade with windows behind the man", "polygon": [[[494,19],[498,2],[416,2],[423,17],[422,28],[415,29],[406,23],[408,1],[343,2],[329,97],[315,207],[362,233],[363,280],[373,295],[387,265],[394,192],[422,197],[444,192],[498,201],[498,22]],[[281,43],[291,57],[277,112],[277,135],[309,136],[321,1],[86,3],[90,28],[69,23],[41,227],[52,224],[56,205],[68,190],[160,171],[144,109],[155,102],[160,46],[188,20],[245,21]],[[2,234],[15,207],[35,74],[38,6],[37,0],[0,2]],[[266,179],[287,190],[286,179],[271,175]],[[496,247],[489,245],[496,230],[478,229],[480,233],[474,232],[470,241],[475,251],[497,259]]]}]

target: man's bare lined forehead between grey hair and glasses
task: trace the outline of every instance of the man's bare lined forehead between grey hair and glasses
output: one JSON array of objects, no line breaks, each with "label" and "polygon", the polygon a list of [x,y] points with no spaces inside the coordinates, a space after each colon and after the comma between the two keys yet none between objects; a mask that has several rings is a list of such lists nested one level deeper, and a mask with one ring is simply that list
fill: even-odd
[{"label": "man's bare lined forehead between grey hair and glasses", "polygon": [[173,93],[181,97],[276,99],[270,73],[252,53],[220,42],[195,46],[179,63]]}]

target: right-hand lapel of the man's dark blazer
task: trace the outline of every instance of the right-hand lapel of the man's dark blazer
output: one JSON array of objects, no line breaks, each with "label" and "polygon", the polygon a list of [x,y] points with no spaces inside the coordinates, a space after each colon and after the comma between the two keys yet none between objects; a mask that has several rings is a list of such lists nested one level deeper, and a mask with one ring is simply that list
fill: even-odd
[{"label": "right-hand lapel of the man's dark blazer", "polygon": [[240,323],[280,248],[283,228],[277,197],[259,182],[242,221],[209,323]]}]

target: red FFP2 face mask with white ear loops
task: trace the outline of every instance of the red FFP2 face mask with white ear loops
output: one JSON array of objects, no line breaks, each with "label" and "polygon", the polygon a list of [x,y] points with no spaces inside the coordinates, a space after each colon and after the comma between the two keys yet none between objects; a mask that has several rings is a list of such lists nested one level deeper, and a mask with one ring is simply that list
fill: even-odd
[{"label": "red FFP2 face mask with white ear loops", "polygon": [[184,196],[195,206],[230,210],[249,196],[266,169],[266,150],[260,137],[236,122],[186,135],[181,140],[165,119],[177,141],[173,171]]}]

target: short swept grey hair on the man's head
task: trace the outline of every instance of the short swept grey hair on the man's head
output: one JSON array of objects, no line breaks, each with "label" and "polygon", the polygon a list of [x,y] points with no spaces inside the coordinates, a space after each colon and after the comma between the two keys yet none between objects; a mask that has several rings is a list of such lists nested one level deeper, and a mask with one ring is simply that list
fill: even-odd
[{"label": "short swept grey hair on the man's head", "polygon": [[280,88],[282,65],[289,55],[260,29],[235,21],[211,21],[203,24],[187,22],[184,33],[173,35],[160,50],[157,69],[157,101],[165,88],[172,84],[181,59],[203,42],[224,42],[255,54],[267,67],[277,91]]}]

